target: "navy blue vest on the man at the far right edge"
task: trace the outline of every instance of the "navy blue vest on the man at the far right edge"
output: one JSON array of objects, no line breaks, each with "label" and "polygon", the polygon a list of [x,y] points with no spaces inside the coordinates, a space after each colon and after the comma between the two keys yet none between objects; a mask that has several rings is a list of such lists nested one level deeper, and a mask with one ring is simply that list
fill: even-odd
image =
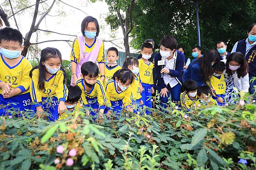
[{"label": "navy blue vest on the man at the far right edge", "polygon": [[[245,50],[246,50],[246,39],[240,40],[237,43],[237,50],[236,52],[241,52],[245,55]],[[247,55],[245,56],[246,61],[248,62],[249,65],[249,77],[255,77],[256,76],[256,45],[254,45]]]}]

